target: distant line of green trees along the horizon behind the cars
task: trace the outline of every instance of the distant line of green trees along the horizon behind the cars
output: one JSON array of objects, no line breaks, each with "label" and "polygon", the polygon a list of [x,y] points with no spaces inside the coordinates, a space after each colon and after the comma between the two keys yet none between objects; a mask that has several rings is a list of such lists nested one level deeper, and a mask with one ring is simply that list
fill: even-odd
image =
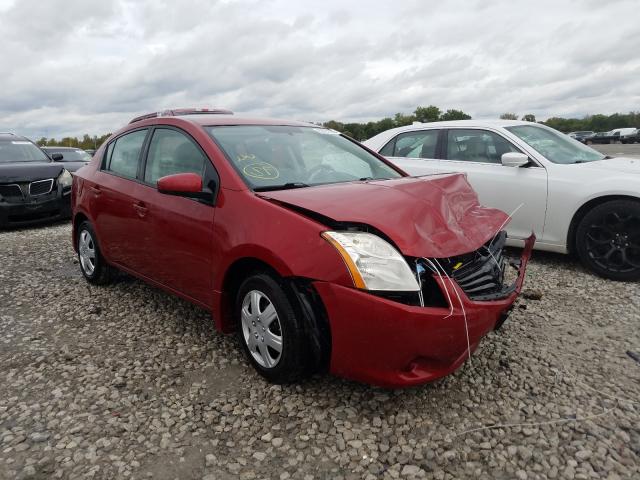
[{"label": "distant line of green trees along the horizon behind the cars", "polygon": [[[518,114],[507,112],[500,115],[500,118],[503,120],[518,120]],[[365,123],[343,123],[336,120],[329,120],[328,122],[324,122],[322,125],[349,135],[356,140],[362,141],[371,138],[378,133],[384,132],[385,130],[389,130],[390,128],[411,125],[413,122],[428,123],[445,120],[469,119],[471,119],[471,115],[463,112],[462,110],[448,109],[443,111],[435,105],[429,105],[428,107],[417,107],[411,114],[396,113],[393,117],[384,117],[377,121]],[[531,113],[522,115],[520,119],[527,122],[536,121],[535,115]],[[583,118],[551,117],[548,120],[538,123],[542,123],[564,133],[579,130],[606,132],[613,130],[614,128],[640,128],[640,112],[632,111],[629,113],[614,113],[612,115],[587,115]],[[91,148],[98,148],[107,138],[109,138],[110,135],[110,133],[107,133],[99,137],[91,137],[85,134],[82,138],[64,137],[60,140],[42,137],[37,143],[41,146],[77,147],[87,150]]]}]

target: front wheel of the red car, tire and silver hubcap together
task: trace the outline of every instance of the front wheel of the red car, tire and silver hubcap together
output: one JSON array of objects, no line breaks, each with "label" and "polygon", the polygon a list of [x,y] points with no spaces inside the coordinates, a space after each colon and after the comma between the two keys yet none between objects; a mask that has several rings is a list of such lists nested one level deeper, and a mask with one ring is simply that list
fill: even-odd
[{"label": "front wheel of the red car, tire and silver hubcap together", "polygon": [[254,273],[240,285],[234,310],[242,350],[256,371],[276,384],[303,379],[312,360],[299,309],[286,292],[275,276]]}]

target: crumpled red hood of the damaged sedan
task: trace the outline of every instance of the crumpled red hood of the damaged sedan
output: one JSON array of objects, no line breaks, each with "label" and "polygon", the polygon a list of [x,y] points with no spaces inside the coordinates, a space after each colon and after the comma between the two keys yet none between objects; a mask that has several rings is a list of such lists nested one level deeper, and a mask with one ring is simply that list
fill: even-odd
[{"label": "crumpled red hood of the damaged sedan", "polygon": [[258,194],[386,234],[403,254],[444,258],[480,248],[508,216],[480,206],[463,174],[340,183]]}]

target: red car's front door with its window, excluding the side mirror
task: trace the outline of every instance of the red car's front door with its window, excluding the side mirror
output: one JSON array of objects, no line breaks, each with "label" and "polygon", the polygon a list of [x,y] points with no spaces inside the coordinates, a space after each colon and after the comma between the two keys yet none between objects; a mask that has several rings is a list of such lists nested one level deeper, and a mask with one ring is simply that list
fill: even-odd
[{"label": "red car's front door with its window, excluding the side mirror", "polygon": [[144,248],[152,261],[148,276],[201,303],[212,302],[213,205],[200,200],[158,192],[159,178],[176,173],[197,173],[203,190],[219,184],[213,164],[198,143],[173,127],[156,127],[149,141],[141,178],[140,196],[147,209],[151,238]]}]

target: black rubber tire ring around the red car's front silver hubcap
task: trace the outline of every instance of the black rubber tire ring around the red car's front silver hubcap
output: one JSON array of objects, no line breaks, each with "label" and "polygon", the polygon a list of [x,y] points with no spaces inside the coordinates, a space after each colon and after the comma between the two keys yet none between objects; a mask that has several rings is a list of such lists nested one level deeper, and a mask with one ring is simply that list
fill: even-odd
[{"label": "black rubber tire ring around the red car's front silver hubcap", "polygon": [[[258,290],[266,295],[278,314],[282,331],[282,353],[278,363],[272,368],[260,365],[249,352],[249,347],[242,332],[241,310],[245,295],[251,290]],[[284,285],[275,276],[268,273],[256,273],[249,276],[238,289],[234,315],[237,319],[236,331],[238,341],[245,356],[260,375],[272,383],[291,383],[300,379],[308,364],[305,335],[296,309],[286,293]]]}]

